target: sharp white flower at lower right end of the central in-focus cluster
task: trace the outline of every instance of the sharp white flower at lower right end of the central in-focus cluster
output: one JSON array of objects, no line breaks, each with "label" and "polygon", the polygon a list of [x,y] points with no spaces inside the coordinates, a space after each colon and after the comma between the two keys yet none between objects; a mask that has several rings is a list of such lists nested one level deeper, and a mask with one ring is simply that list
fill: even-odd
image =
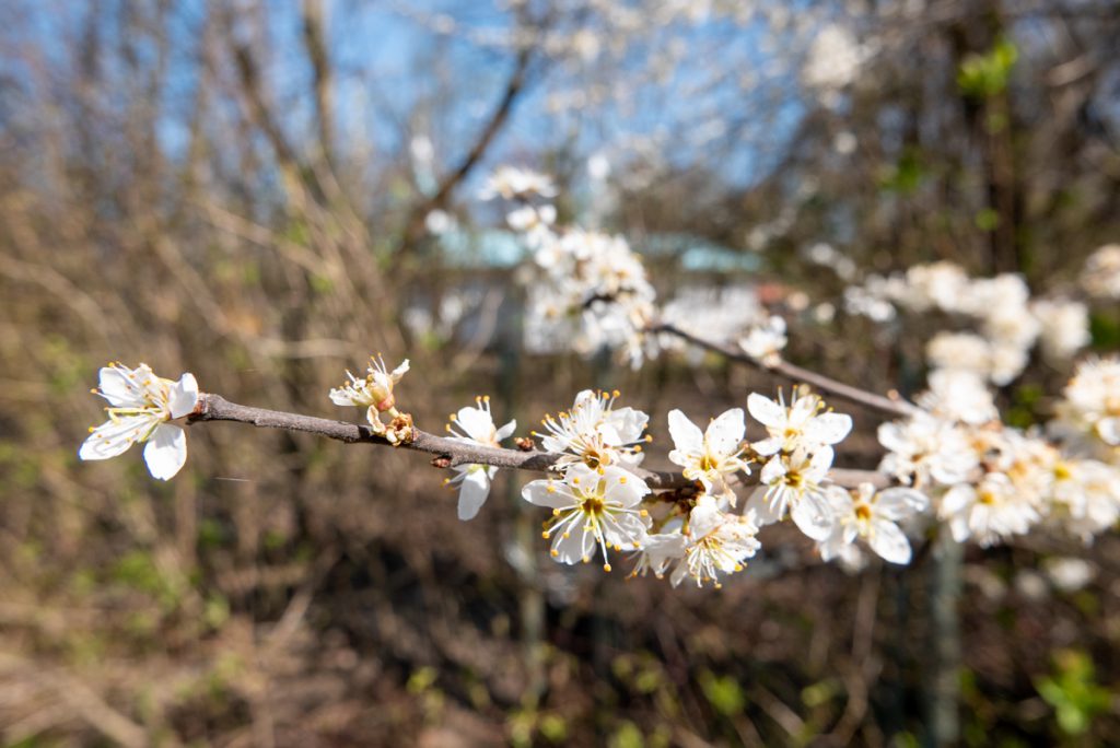
[{"label": "sharp white flower at lower right end of the central in-focus cluster", "polygon": [[818,544],[822,559],[831,561],[839,557],[858,537],[884,561],[909,563],[909,540],[898,523],[928,509],[925,494],[913,488],[877,490],[865,483],[856,490],[829,486],[825,496],[837,524],[832,534]]}]

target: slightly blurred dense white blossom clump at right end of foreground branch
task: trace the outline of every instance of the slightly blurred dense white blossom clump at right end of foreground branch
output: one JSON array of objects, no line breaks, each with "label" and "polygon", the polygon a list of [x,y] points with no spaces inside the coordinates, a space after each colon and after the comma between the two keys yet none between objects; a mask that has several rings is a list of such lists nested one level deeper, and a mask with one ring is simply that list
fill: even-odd
[{"label": "slightly blurred dense white blossom clump at right end of foreground branch", "polygon": [[927,495],[958,542],[992,545],[1039,524],[1088,542],[1120,518],[1118,393],[1120,362],[1079,366],[1052,443],[1001,423],[974,377],[937,372],[923,411],[879,427],[879,469]]}]

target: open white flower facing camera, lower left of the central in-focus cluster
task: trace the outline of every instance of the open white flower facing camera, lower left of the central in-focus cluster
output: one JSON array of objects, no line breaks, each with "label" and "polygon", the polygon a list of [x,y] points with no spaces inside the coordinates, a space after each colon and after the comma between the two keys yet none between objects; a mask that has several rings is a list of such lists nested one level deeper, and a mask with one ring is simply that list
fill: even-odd
[{"label": "open white flower facing camera, lower left of the central in-focus cluster", "polygon": [[648,486],[615,466],[592,469],[578,464],[563,478],[533,480],[522,489],[531,504],[552,509],[542,533],[552,540],[552,558],[561,563],[587,563],[596,552],[610,571],[609,550],[641,550],[646,542],[650,514],[642,508]]}]

